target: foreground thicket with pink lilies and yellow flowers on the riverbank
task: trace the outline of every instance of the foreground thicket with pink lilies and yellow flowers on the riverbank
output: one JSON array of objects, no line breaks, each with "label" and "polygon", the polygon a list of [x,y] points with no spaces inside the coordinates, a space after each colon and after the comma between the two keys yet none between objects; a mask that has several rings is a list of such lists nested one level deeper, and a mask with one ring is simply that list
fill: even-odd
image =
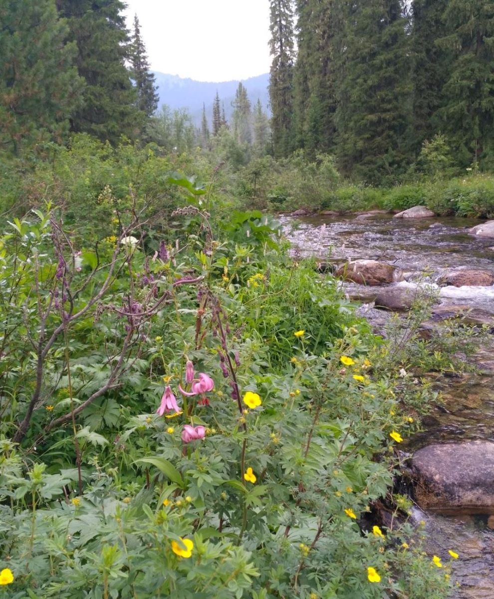
[{"label": "foreground thicket with pink lilies and yellow flowers on the riverbank", "polygon": [[429,399],[399,352],[269,217],[92,144],[1,240],[0,589],[445,597],[390,497]]}]

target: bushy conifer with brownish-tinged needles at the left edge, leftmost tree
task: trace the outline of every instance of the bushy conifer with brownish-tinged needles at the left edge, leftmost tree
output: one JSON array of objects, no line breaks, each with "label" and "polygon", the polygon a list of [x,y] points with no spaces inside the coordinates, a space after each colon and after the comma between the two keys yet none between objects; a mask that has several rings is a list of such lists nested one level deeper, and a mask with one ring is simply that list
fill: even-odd
[{"label": "bushy conifer with brownish-tinged needles at the left edge, leftmost tree", "polygon": [[74,44],[54,0],[0,0],[0,151],[62,141],[80,99]]}]

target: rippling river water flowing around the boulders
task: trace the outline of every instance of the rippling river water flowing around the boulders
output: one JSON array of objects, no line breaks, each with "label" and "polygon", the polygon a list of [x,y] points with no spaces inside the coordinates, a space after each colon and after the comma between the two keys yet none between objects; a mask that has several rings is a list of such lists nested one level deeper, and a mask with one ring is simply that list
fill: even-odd
[{"label": "rippling river water flowing around the boulders", "polygon": [[[478,220],[408,220],[372,214],[282,217],[281,223],[299,255],[317,256],[330,264],[357,259],[387,262],[404,273],[404,282],[393,286],[428,285],[441,304],[480,311],[494,322],[494,286],[441,285],[441,277],[458,268],[494,272],[494,239],[468,234]],[[350,297],[360,298],[360,313],[381,332],[389,313],[373,307],[372,294],[366,297],[369,289],[351,283],[343,286]],[[489,346],[475,356],[477,373],[437,377],[434,384],[443,394],[444,403],[425,418],[423,431],[411,438],[405,451],[444,441],[494,441],[494,343]],[[416,507],[412,517],[425,522],[429,533],[426,549],[431,555],[447,555],[448,549],[460,554],[453,562],[452,576],[459,582],[454,598],[494,599],[494,516],[440,516]]]}]

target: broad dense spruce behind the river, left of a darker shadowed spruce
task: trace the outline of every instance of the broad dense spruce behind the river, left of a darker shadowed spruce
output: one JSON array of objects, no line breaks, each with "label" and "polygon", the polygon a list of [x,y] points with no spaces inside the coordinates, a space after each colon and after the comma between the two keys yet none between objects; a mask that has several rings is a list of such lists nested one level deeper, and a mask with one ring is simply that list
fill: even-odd
[{"label": "broad dense spruce behind the river, left of a darker shadowed spruce", "polygon": [[[402,0],[354,0],[343,9],[338,51],[338,164],[371,183],[405,167],[409,58]],[[343,58],[342,58],[343,57]]]}]

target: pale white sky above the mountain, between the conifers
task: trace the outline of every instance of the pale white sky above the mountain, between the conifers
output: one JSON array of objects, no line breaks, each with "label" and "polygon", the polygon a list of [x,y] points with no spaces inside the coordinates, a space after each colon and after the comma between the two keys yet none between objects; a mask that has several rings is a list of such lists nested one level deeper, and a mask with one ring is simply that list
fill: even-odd
[{"label": "pale white sky above the mountain, between the conifers", "polygon": [[198,81],[269,71],[269,0],[124,0],[153,71]]}]

